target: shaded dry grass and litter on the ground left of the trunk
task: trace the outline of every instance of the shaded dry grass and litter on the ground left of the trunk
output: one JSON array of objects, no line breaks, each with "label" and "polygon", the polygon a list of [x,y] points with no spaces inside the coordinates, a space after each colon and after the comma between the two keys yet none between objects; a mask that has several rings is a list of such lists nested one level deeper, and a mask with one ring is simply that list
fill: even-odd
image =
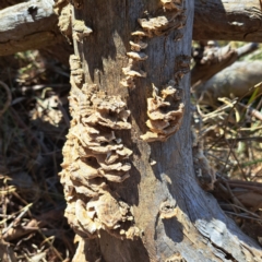
[{"label": "shaded dry grass and litter on the ground left of the trunk", "polygon": [[1,79],[9,86],[0,86],[0,261],[66,261],[74,252],[74,234],[63,218],[57,174],[69,126],[69,75],[38,51],[4,60]]}]

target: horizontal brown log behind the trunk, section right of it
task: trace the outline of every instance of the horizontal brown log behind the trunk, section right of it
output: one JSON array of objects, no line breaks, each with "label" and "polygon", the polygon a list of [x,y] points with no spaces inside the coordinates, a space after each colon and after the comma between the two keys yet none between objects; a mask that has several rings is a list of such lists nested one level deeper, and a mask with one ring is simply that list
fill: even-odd
[{"label": "horizontal brown log behind the trunk, section right of it", "polygon": [[260,0],[195,0],[193,39],[261,41]]}]

